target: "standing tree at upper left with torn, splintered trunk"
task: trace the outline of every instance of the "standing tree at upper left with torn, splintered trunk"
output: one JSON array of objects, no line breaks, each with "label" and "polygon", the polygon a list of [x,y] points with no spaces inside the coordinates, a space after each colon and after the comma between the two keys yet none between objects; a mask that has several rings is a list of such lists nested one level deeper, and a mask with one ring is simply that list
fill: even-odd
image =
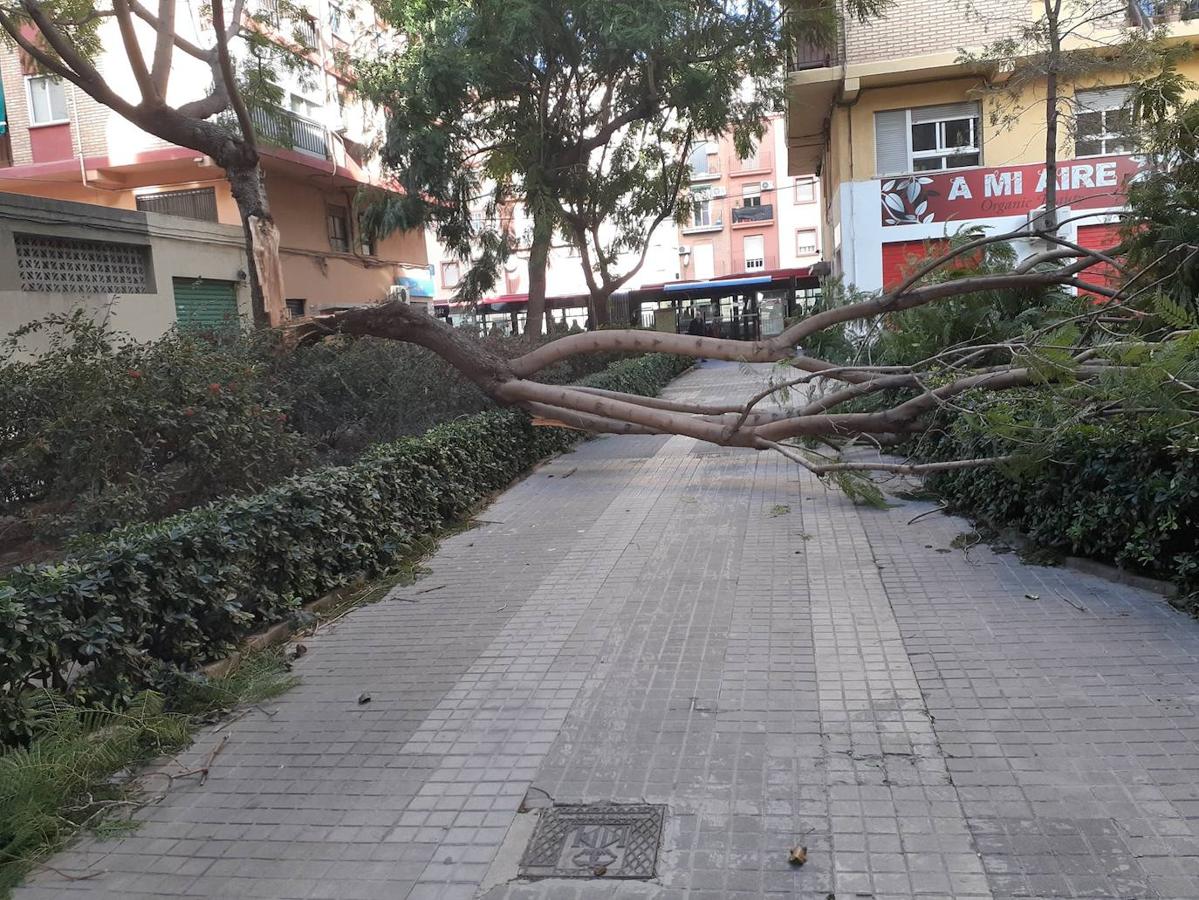
[{"label": "standing tree at upper left with torn, splintered trunk", "polygon": [[[229,10],[224,0],[211,0],[199,29],[177,7],[177,0],[158,0],[153,8],[140,0],[0,0],[0,34],[41,71],[224,169],[246,236],[254,319],[265,322],[283,308],[283,270],[249,107],[277,101],[273,73],[299,67],[311,48],[299,29],[269,37],[266,17],[248,14],[245,0],[233,0]],[[114,22],[115,34],[108,28]],[[107,66],[128,65],[135,96],[113,86],[102,53]],[[181,89],[182,75],[175,74],[188,62],[199,64],[209,80],[194,91]],[[188,98],[171,99],[181,95]]]}]

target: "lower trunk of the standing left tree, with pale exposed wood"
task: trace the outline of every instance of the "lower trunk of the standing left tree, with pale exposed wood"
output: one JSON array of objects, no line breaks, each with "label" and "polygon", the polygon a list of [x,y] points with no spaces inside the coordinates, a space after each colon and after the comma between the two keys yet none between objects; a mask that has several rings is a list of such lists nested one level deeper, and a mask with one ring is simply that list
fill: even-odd
[{"label": "lower trunk of the standing left tree, with pale exposed wood", "polygon": [[278,250],[278,229],[271,218],[258,155],[254,153],[252,161],[230,163],[224,170],[246,237],[246,270],[249,273],[254,325],[259,327],[278,325],[284,307],[283,268]]}]

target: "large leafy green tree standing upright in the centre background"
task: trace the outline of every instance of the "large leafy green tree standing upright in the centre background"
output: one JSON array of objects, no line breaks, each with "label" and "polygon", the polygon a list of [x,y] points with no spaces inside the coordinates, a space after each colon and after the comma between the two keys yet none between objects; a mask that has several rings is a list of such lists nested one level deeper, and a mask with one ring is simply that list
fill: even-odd
[{"label": "large leafy green tree standing upright in the centre background", "polygon": [[474,300],[524,241],[505,215],[522,203],[532,332],[555,235],[585,254],[602,316],[675,215],[694,135],[733,132],[748,147],[781,97],[785,48],[836,35],[831,6],[784,16],[778,0],[397,0],[391,14],[405,50],[362,68],[390,110],[382,157],[404,191],[368,222],[432,225],[471,264],[460,296]]}]

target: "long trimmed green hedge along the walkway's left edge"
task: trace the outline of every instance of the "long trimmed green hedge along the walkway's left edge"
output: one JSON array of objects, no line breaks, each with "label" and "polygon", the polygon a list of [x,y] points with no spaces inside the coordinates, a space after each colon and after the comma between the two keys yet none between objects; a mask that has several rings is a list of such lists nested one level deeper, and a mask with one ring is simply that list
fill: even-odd
[{"label": "long trimmed green hedge along the walkway's left edge", "polygon": [[[650,395],[689,363],[644,356],[582,383]],[[28,735],[25,689],[119,705],[302,603],[387,572],[416,539],[577,440],[519,411],[482,412],[12,570],[0,580],[0,742]]]}]

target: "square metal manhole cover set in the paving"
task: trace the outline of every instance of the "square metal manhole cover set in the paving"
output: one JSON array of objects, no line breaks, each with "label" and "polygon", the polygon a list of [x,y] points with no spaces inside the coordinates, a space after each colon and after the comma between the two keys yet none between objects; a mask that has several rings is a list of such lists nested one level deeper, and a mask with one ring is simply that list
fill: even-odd
[{"label": "square metal manhole cover set in the paving", "polygon": [[520,877],[652,878],[665,811],[652,804],[552,807],[520,858]]}]

